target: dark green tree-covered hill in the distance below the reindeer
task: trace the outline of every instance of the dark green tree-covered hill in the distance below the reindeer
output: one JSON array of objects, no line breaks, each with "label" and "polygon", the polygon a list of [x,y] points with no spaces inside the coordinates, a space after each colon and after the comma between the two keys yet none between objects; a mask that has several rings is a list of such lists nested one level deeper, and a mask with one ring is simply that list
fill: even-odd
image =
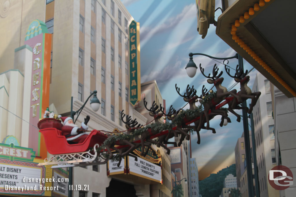
[{"label": "dark green tree-covered hill in the distance below the reindeer", "polygon": [[235,164],[220,170],[217,174],[211,174],[204,180],[200,180],[199,188],[202,197],[219,197],[223,188],[223,181],[229,174],[236,177]]}]

